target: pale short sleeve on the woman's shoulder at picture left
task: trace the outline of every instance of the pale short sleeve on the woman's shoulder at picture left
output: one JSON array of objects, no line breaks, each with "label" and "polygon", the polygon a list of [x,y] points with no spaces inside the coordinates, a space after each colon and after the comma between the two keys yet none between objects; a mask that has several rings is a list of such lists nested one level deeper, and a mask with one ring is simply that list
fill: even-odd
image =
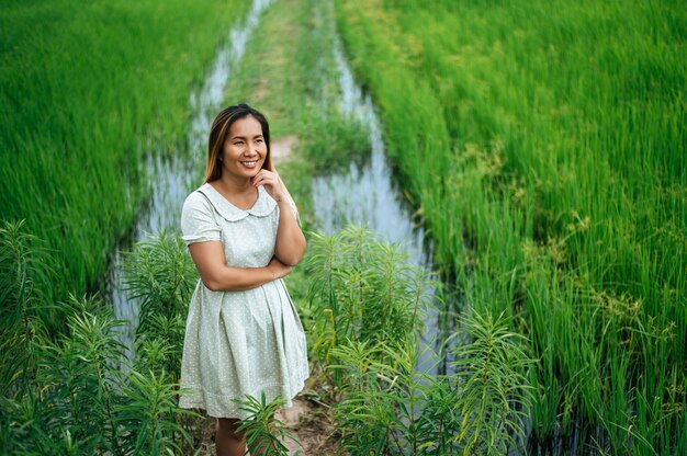
[{"label": "pale short sleeve on the woman's shoulder at picture left", "polygon": [[187,246],[221,240],[222,229],[215,221],[211,203],[200,192],[191,193],[181,209],[181,238]]}]

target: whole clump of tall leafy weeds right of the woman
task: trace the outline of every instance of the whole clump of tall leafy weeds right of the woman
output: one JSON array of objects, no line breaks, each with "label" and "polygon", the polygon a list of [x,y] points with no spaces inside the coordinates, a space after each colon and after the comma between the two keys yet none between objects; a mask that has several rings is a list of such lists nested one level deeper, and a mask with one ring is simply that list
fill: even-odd
[{"label": "whole clump of tall leafy weeds right of the woman", "polygon": [[505,454],[522,445],[533,367],[506,318],[463,320],[455,374],[423,371],[430,274],[362,227],[314,235],[306,259],[317,364],[351,455]]}]

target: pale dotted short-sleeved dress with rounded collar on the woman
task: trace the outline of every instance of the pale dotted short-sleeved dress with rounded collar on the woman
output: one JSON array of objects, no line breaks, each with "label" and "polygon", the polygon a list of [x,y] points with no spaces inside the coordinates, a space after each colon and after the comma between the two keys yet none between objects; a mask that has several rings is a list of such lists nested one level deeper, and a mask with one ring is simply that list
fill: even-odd
[{"label": "pale dotted short-sleeved dress with rounded collar on the woman", "polygon": [[[274,255],[279,206],[262,187],[243,210],[212,185],[191,193],[181,213],[188,244],[219,240],[226,264],[262,267]],[[245,292],[212,292],[199,281],[187,319],[179,406],[210,417],[248,417],[246,395],[288,400],[308,377],[303,326],[281,278]]]}]

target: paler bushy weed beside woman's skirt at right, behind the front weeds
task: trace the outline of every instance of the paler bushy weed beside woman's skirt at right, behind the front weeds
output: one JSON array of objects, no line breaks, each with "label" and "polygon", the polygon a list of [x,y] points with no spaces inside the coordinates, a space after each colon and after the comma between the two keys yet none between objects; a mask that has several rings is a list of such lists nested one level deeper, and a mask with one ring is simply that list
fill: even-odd
[{"label": "paler bushy weed beside woman's skirt at right, behind the front weeds", "polygon": [[333,236],[313,233],[309,244],[308,297],[320,361],[330,361],[340,345],[402,341],[421,330],[433,282],[397,247],[354,225]]}]

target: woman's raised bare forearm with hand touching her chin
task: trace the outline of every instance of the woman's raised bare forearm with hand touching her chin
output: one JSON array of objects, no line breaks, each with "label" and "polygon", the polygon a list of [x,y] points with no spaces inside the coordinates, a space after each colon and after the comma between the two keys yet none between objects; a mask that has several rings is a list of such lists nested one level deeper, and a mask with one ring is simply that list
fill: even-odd
[{"label": "woman's raised bare forearm with hand touching her chin", "polygon": [[279,227],[277,228],[274,256],[289,266],[295,266],[305,253],[305,236],[303,236],[299,220],[291,209],[291,197],[286,186],[279,174],[268,170],[260,170],[252,178],[252,184],[255,186],[264,185],[264,190],[279,205]]}]

